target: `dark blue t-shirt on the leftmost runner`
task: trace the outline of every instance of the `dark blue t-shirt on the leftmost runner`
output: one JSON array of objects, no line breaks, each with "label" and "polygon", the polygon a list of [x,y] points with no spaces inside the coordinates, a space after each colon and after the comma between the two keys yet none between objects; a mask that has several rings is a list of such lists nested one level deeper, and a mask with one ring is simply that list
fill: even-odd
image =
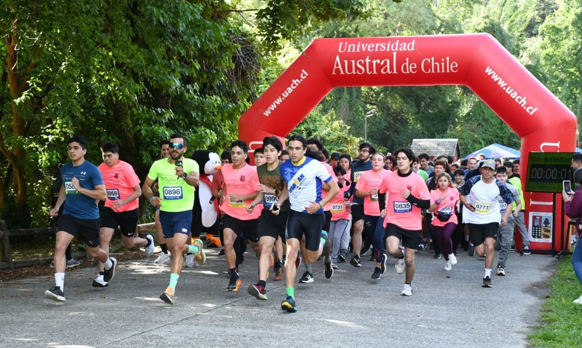
[{"label": "dark blue t-shirt on the leftmost runner", "polygon": [[86,220],[99,218],[99,207],[95,199],[77,192],[71,183],[73,178],[77,178],[81,187],[90,190],[95,189],[95,186],[104,185],[99,169],[87,160],[76,167],[72,163],[67,163],[61,167],[61,178],[66,194],[63,214]]}]

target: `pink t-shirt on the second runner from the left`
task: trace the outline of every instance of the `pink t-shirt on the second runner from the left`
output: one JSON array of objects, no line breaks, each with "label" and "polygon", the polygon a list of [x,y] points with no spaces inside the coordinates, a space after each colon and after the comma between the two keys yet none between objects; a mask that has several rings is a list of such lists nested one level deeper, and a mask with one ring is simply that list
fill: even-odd
[{"label": "pink t-shirt on the second runner from the left", "polygon": [[132,200],[132,202],[123,205],[119,209],[113,208],[113,200],[126,199],[132,195],[133,187],[140,184],[132,165],[120,160],[115,166],[109,167],[107,164],[101,163],[98,168],[103,177],[105,190],[107,190],[105,206],[113,209],[116,213],[137,209],[139,198]]}]

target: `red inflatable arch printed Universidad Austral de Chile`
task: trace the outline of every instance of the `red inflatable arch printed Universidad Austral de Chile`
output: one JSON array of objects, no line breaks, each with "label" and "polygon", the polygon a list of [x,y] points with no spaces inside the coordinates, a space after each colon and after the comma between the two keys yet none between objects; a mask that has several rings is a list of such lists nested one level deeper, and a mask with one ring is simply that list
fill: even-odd
[{"label": "red inflatable arch printed Universidad Austral de Chile", "polygon": [[[521,168],[532,151],[574,151],[576,116],[489,34],[314,40],[240,117],[239,136],[251,149],[286,137],[335,87],[402,85],[469,87],[521,138]],[[527,211],[556,203],[525,200]]]}]

